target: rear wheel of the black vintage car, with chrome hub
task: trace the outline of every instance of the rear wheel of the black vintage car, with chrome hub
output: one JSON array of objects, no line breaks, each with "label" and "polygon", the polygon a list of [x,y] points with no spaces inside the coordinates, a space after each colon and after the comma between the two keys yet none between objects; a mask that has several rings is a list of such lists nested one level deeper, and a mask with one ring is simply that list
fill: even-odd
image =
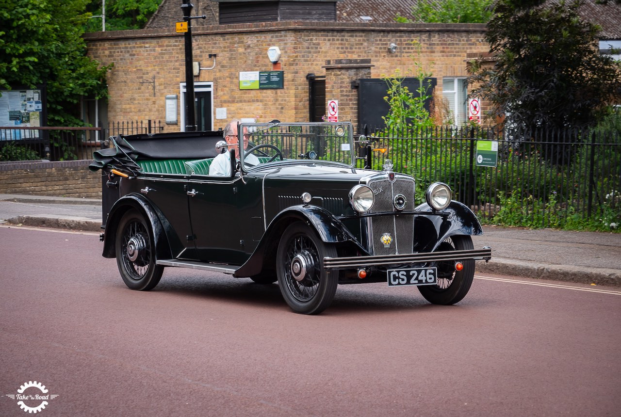
[{"label": "rear wheel of the black vintage car, with chrome hub", "polygon": [[139,291],[155,288],[164,267],[155,264],[153,231],[142,213],[129,210],[123,215],[115,247],[117,266],[125,285]]}]

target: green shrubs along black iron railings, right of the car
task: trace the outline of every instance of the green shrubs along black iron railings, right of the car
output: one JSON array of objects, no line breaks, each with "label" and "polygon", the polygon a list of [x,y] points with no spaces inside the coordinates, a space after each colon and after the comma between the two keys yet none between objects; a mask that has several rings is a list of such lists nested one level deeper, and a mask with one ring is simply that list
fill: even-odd
[{"label": "green shrubs along black iron railings, right of the car", "polygon": [[[419,199],[428,184],[443,181],[484,221],[621,228],[619,132],[437,128],[382,130],[369,137],[374,147],[388,149],[375,153],[374,168],[391,159],[395,171],[417,179]],[[476,164],[478,140],[497,141],[497,166]]]}]

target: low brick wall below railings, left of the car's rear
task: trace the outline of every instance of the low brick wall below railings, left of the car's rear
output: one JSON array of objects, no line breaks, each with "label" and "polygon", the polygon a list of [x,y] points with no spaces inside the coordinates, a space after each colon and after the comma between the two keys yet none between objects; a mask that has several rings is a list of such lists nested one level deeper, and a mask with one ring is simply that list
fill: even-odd
[{"label": "low brick wall below railings, left of the car's rear", "polygon": [[63,195],[101,198],[101,172],[91,161],[0,163],[0,194]]}]

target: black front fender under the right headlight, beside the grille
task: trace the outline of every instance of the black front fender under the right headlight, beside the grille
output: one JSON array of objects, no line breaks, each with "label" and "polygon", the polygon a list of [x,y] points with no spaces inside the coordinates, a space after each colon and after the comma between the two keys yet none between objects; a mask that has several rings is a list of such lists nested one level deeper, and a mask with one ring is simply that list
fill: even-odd
[{"label": "black front fender under the right headlight, beside the grille", "polygon": [[[415,208],[417,212],[432,213],[427,203]],[[443,240],[454,235],[483,235],[478,218],[466,205],[452,200],[441,210],[444,215],[419,214],[414,220],[414,251],[433,252]]]}]

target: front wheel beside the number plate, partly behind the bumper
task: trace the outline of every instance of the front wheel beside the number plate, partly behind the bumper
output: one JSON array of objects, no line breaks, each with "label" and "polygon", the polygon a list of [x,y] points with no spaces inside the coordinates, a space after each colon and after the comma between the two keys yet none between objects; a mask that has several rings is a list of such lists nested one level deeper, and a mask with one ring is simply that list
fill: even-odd
[{"label": "front wheel beside the number plate, partly behind the bumper", "polygon": [[[474,249],[472,238],[458,235],[446,238],[435,251],[466,249]],[[461,271],[455,271],[455,261],[438,263],[438,284],[417,287],[425,300],[432,304],[451,305],[466,297],[474,279],[474,259],[466,259],[461,263],[464,266]]]}]

